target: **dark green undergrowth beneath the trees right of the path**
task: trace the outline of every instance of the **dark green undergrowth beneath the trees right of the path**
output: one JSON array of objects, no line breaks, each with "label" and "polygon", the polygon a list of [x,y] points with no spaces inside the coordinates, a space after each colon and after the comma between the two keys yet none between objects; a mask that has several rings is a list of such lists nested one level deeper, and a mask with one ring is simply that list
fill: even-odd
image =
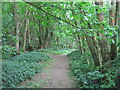
[{"label": "dark green undergrowth beneath the trees right of the path", "polygon": [[89,53],[81,55],[79,51],[73,51],[68,56],[70,58],[70,70],[78,82],[76,87],[114,88],[120,82],[120,79],[116,78],[120,75],[120,55],[116,60],[111,61],[111,67],[104,68],[105,73],[100,71],[101,67],[95,67]]}]

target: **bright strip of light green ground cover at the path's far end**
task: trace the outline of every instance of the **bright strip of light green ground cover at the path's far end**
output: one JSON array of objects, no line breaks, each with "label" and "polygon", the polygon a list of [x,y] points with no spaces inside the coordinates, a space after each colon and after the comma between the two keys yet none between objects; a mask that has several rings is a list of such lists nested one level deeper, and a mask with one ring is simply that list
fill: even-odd
[{"label": "bright strip of light green ground cover at the path's far end", "polygon": [[50,54],[55,54],[55,55],[61,55],[61,54],[68,54],[75,49],[39,49],[37,50],[38,52],[46,52]]}]

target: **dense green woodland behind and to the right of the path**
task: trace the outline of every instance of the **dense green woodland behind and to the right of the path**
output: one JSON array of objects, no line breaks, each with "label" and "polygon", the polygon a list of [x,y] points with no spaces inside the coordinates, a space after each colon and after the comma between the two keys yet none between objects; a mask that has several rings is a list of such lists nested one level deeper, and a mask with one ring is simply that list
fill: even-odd
[{"label": "dense green woodland behind and to the right of the path", "polygon": [[4,61],[30,51],[76,49],[68,56],[79,87],[120,86],[119,0],[4,2],[2,33]]}]

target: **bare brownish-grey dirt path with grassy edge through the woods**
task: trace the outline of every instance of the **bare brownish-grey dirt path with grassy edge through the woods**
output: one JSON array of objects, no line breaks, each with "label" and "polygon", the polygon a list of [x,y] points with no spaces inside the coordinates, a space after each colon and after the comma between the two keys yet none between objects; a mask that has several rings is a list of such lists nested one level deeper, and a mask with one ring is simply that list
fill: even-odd
[{"label": "bare brownish-grey dirt path with grassy edge through the woods", "polygon": [[32,80],[26,80],[20,87],[27,88],[74,88],[75,82],[69,70],[67,55],[51,55],[53,60],[42,73],[38,73]]}]

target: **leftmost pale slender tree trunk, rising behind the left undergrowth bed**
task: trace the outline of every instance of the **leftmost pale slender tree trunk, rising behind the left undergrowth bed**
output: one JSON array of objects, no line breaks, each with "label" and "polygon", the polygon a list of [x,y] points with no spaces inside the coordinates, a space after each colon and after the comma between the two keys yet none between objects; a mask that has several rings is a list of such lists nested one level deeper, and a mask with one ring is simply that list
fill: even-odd
[{"label": "leftmost pale slender tree trunk, rising behind the left undergrowth bed", "polygon": [[17,10],[17,5],[16,3],[13,6],[14,8],[14,21],[15,21],[15,30],[16,30],[16,50],[19,51],[19,35],[20,35],[20,30],[19,30],[19,17],[18,17],[18,12]]}]

